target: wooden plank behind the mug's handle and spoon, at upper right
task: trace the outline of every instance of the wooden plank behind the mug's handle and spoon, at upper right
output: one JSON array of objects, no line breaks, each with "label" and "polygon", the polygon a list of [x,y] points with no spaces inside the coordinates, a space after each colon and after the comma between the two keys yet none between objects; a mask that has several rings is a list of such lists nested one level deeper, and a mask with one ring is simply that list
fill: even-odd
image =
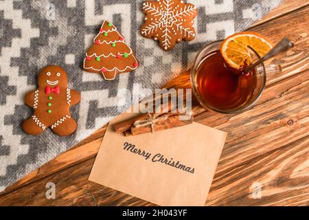
[{"label": "wooden plank behind the mug's handle and spoon, at upper right", "polygon": [[309,6],[258,27],[249,28],[249,31],[263,34],[273,43],[286,36],[295,44],[292,50],[273,60],[273,63],[282,66],[283,72],[268,74],[268,85],[309,68]]}]

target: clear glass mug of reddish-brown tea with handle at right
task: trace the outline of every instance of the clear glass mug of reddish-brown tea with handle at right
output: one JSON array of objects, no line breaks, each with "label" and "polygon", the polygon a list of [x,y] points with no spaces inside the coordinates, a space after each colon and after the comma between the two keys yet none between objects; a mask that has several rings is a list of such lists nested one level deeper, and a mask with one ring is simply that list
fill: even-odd
[{"label": "clear glass mug of reddish-brown tea with handle at right", "polygon": [[[240,113],[253,107],[260,98],[266,74],[282,70],[279,65],[261,63],[249,73],[237,74],[223,61],[221,43],[209,43],[196,56],[190,73],[192,91],[205,109],[225,114]],[[254,55],[253,62],[258,58],[258,54]]]}]

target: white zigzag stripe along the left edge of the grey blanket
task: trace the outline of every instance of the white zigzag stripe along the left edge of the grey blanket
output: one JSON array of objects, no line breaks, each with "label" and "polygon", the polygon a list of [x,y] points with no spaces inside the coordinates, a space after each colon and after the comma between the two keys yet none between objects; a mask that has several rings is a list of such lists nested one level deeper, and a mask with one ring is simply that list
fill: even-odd
[{"label": "white zigzag stripe along the left edge of the grey blanket", "polygon": [[[23,87],[27,85],[27,78],[19,76],[17,67],[10,67],[10,58],[20,56],[21,48],[30,47],[30,40],[39,36],[39,30],[31,27],[30,19],[23,19],[22,10],[14,10],[12,1],[1,1],[0,10],[3,11],[5,19],[12,20],[14,28],[21,30],[21,39],[13,39],[11,47],[2,48],[0,68],[1,76],[10,76],[9,85],[16,85],[15,97],[23,100],[23,94],[29,90],[29,87]],[[15,98],[7,98],[6,103],[0,105],[0,112],[3,115],[14,112],[15,102]],[[9,155],[0,156],[0,176],[5,175],[7,166],[16,164],[19,155],[28,153],[27,144],[21,144],[21,135],[13,135],[12,126],[5,126],[3,120],[4,118],[0,117],[0,134],[8,134],[3,135],[3,145],[8,144],[14,147],[10,148]]]}]

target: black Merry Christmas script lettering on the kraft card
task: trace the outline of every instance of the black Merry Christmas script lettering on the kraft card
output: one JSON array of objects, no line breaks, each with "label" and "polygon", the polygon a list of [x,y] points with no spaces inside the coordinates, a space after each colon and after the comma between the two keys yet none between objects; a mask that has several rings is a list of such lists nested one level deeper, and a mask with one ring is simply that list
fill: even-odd
[{"label": "black Merry Christmas script lettering on the kraft card", "polygon": [[124,150],[130,151],[131,153],[135,153],[137,155],[145,157],[145,159],[151,158],[151,162],[154,162],[154,163],[155,162],[161,162],[162,164],[174,166],[175,168],[187,171],[189,173],[194,173],[194,168],[191,168],[190,166],[185,166],[185,165],[181,164],[181,162],[179,162],[179,161],[176,162],[173,158],[170,158],[170,159],[165,158],[164,155],[161,154],[161,153],[157,153],[157,154],[151,156],[152,155],[151,153],[146,152],[144,150],[141,150],[139,148],[136,148],[134,144],[130,144],[128,142],[124,143]]}]

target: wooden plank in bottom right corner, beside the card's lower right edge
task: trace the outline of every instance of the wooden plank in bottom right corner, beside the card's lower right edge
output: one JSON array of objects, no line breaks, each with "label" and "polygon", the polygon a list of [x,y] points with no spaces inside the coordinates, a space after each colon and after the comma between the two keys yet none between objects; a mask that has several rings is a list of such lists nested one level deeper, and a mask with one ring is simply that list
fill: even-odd
[{"label": "wooden plank in bottom right corner, beside the card's lower right edge", "polygon": [[206,206],[308,206],[308,146],[307,136],[217,172]]}]

